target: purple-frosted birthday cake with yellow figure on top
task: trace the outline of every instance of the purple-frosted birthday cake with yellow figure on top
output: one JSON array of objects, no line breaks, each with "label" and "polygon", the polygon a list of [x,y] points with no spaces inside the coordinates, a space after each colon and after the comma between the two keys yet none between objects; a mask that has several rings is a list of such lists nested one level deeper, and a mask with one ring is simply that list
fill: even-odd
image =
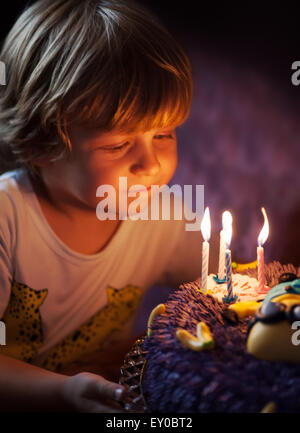
[{"label": "purple-frosted birthday cake with yellow figure on top", "polygon": [[254,275],[233,279],[233,304],[209,278],[209,293],[183,284],[153,310],[141,381],[149,411],[300,412],[300,268],[266,265],[263,301]]}]

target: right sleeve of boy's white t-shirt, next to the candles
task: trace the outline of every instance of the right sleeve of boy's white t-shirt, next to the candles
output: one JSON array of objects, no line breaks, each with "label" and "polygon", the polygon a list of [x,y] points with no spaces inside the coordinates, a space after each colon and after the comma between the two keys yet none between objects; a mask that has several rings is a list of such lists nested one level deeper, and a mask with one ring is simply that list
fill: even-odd
[{"label": "right sleeve of boy's white t-shirt, next to the candles", "polygon": [[[170,255],[167,267],[157,285],[178,287],[182,283],[187,283],[201,277],[202,271],[202,243],[203,237],[200,230],[187,230],[186,219],[176,221],[176,235],[174,249]],[[174,232],[174,230],[173,230]],[[212,232],[209,242],[209,273],[217,272],[218,247],[217,235]]]}]

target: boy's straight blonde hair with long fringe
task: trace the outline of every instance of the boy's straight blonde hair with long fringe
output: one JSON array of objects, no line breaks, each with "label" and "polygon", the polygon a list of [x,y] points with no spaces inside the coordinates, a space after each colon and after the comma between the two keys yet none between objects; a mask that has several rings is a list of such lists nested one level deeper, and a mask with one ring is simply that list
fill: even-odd
[{"label": "boy's straight blonde hair with long fringe", "polygon": [[129,0],[39,0],[7,35],[0,60],[0,149],[34,171],[71,151],[68,125],[106,131],[183,123],[190,62],[148,10]]}]

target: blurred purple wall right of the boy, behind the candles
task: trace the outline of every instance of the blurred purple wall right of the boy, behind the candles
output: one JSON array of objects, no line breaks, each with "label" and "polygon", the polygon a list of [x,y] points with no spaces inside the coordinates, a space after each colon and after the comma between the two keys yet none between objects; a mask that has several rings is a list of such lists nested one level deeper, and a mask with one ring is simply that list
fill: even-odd
[{"label": "blurred purple wall right of the boy, behind the candles", "polygon": [[300,113],[294,103],[300,88],[291,85],[291,63],[281,85],[270,70],[238,56],[195,45],[188,51],[194,100],[178,129],[179,165],[171,183],[204,184],[218,230],[223,210],[232,211],[238,261],[256,258],[264,206],[270,222],[266,261],[300,265]]}]

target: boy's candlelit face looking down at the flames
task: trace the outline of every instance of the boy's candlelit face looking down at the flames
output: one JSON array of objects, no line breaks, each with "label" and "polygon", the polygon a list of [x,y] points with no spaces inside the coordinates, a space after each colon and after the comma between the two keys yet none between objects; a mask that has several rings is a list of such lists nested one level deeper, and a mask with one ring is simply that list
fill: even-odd
[{"label": "boy's candlelit face looking down at the flames", "polygon": [[[41,172],[50,193],[77,206],[81,202],[95,209],[100,201],[96,190],[104,184],[112,185],[118,198],[120,176],[127,177],[128,189],[136,184],[167,184],[177,166],[174,127],[126,134],[73,125],[69,136],[70,158],[45,165]],[[128,205],[134,199],[128,198]]]}]

